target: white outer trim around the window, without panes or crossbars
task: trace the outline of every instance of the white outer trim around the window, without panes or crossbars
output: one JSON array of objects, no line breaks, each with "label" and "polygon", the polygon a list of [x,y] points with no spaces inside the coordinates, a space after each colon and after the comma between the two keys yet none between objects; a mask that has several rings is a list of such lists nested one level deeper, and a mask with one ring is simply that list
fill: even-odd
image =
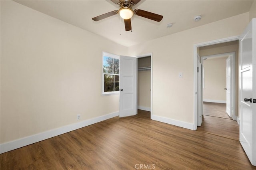
[{"label": "white outer trim around the window, without panes or crossbars", "polygon": [[[104,91],[104,71],[103,71],[104,56],[119,59],[119,61],[120,61],[120,56],[119,55],[115,55],[115,54],[112,54],[112,53],[107,53],[107,52],[102,51],[102,64],[101,64],[101,67],[102,67],[102,71],[101,71],[101,73],[102,73],[102,95],[103,96],[105,96],[105,95],[119,95],[119,91],[109,91],[109,92]],[[120,75],[120,63],[119,63],[119,75]]]}]

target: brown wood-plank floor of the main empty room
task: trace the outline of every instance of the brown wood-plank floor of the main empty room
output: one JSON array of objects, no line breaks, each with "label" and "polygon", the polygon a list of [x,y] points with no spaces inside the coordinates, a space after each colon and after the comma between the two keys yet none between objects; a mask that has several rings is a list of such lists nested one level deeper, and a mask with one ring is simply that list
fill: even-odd
[{"label": "brown wood-plank floor of the main empty room", "polygon": [[236,140],[149,117],[114,117],[3,153],[1,170],[256,169]]}]

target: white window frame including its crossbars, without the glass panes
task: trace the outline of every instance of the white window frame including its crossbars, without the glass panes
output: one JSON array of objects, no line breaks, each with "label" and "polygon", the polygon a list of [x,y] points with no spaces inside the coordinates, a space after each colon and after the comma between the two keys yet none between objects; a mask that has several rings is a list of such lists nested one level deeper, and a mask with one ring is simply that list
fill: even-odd
[{"label": "white window frame including its crossbars, without the glass panes", "polygon": [[[111,74],[111,73],[104,73],[104,56],[105,57],[111,57],[113,59],[119,59],[119,74]],[[119,55],[115,55],[112,53],[107,53],[102,51],[102,95],[118,95],[120,92],[119,91],[108,91],[105,92],[105,74],[107,75],[118,75],[119,76],[119,80],[120,80],[120,56]]]}]

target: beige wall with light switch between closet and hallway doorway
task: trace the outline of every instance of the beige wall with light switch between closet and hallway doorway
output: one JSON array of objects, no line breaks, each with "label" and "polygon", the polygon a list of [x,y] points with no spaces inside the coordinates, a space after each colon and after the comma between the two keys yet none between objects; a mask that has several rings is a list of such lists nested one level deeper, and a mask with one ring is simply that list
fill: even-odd
[{"label": "beige wall with light switch between closet and hallway doorway", "polygon": [[152,53],[153,116],[193,123],[194,44],[239,36],[248,23],[247,12],[130,47],[130,55]]}]

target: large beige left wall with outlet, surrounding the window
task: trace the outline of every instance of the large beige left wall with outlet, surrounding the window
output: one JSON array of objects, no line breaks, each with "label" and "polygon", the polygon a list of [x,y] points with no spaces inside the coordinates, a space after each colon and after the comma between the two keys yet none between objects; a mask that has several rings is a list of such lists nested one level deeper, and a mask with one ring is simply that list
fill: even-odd
[{"label": "large beige left wall with outlet, surrounding the window", "polygon": [[102,96],[102,51],[126,47],[1,1],[1,143],[119,111]]}]

